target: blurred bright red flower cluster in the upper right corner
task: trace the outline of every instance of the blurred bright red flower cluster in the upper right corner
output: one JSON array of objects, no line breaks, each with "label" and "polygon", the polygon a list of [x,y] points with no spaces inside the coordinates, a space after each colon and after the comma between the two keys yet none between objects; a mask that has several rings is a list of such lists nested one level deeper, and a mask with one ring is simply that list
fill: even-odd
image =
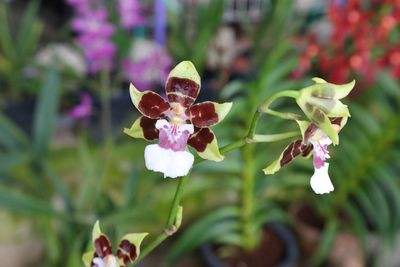
[{"label": "blurred bright red flower cluster in the upper right corner", "polygon": [[327,15],[332,25],[329,39],[319,43],[315,35],[307,36],[294,78],[313,66],[333,83],[344,83],[356,74],[369,84],[383,68],[400,78],[400,42],[394,34],[400,0],[331,1]]}]

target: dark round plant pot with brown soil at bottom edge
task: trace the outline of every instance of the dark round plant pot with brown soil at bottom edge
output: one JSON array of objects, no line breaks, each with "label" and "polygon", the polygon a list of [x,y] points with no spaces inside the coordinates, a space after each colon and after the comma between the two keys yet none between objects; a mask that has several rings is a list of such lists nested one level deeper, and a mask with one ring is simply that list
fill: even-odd
[{"label": "dark round plant pot with brown soil at bottom edge", "polygon": [[297,266],[299,251],[292,231],[280,223],[265,225],[260,246],[247,253],[220,259],[210,244],[201,247],[201,255],[208,267],[294,267]]}]

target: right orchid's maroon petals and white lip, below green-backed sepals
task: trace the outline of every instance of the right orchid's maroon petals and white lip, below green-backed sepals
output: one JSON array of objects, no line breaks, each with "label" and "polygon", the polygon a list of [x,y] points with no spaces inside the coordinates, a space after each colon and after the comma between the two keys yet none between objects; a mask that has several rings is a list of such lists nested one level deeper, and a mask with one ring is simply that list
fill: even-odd
[{"label": "right orchid's maroon petals and white lip, below green-backed sepals", "polygon": [[[315,123],[297,121],[302,135],[302,140],[290,143],[282,152],[280,157],[267,168],[263,169],[265,174],[274,174],[280,168],[287,165],[295,157],[302,155],[307,157],[313,152],[314,174],[310,179],[311,188],[317,194],[325,194],[333,191],[334,187],[329,178],[327,159],[330,158],[328,146],[332,140]],[[347,122],[347,117],[335,118],[330,123],[339,132]]]}]

